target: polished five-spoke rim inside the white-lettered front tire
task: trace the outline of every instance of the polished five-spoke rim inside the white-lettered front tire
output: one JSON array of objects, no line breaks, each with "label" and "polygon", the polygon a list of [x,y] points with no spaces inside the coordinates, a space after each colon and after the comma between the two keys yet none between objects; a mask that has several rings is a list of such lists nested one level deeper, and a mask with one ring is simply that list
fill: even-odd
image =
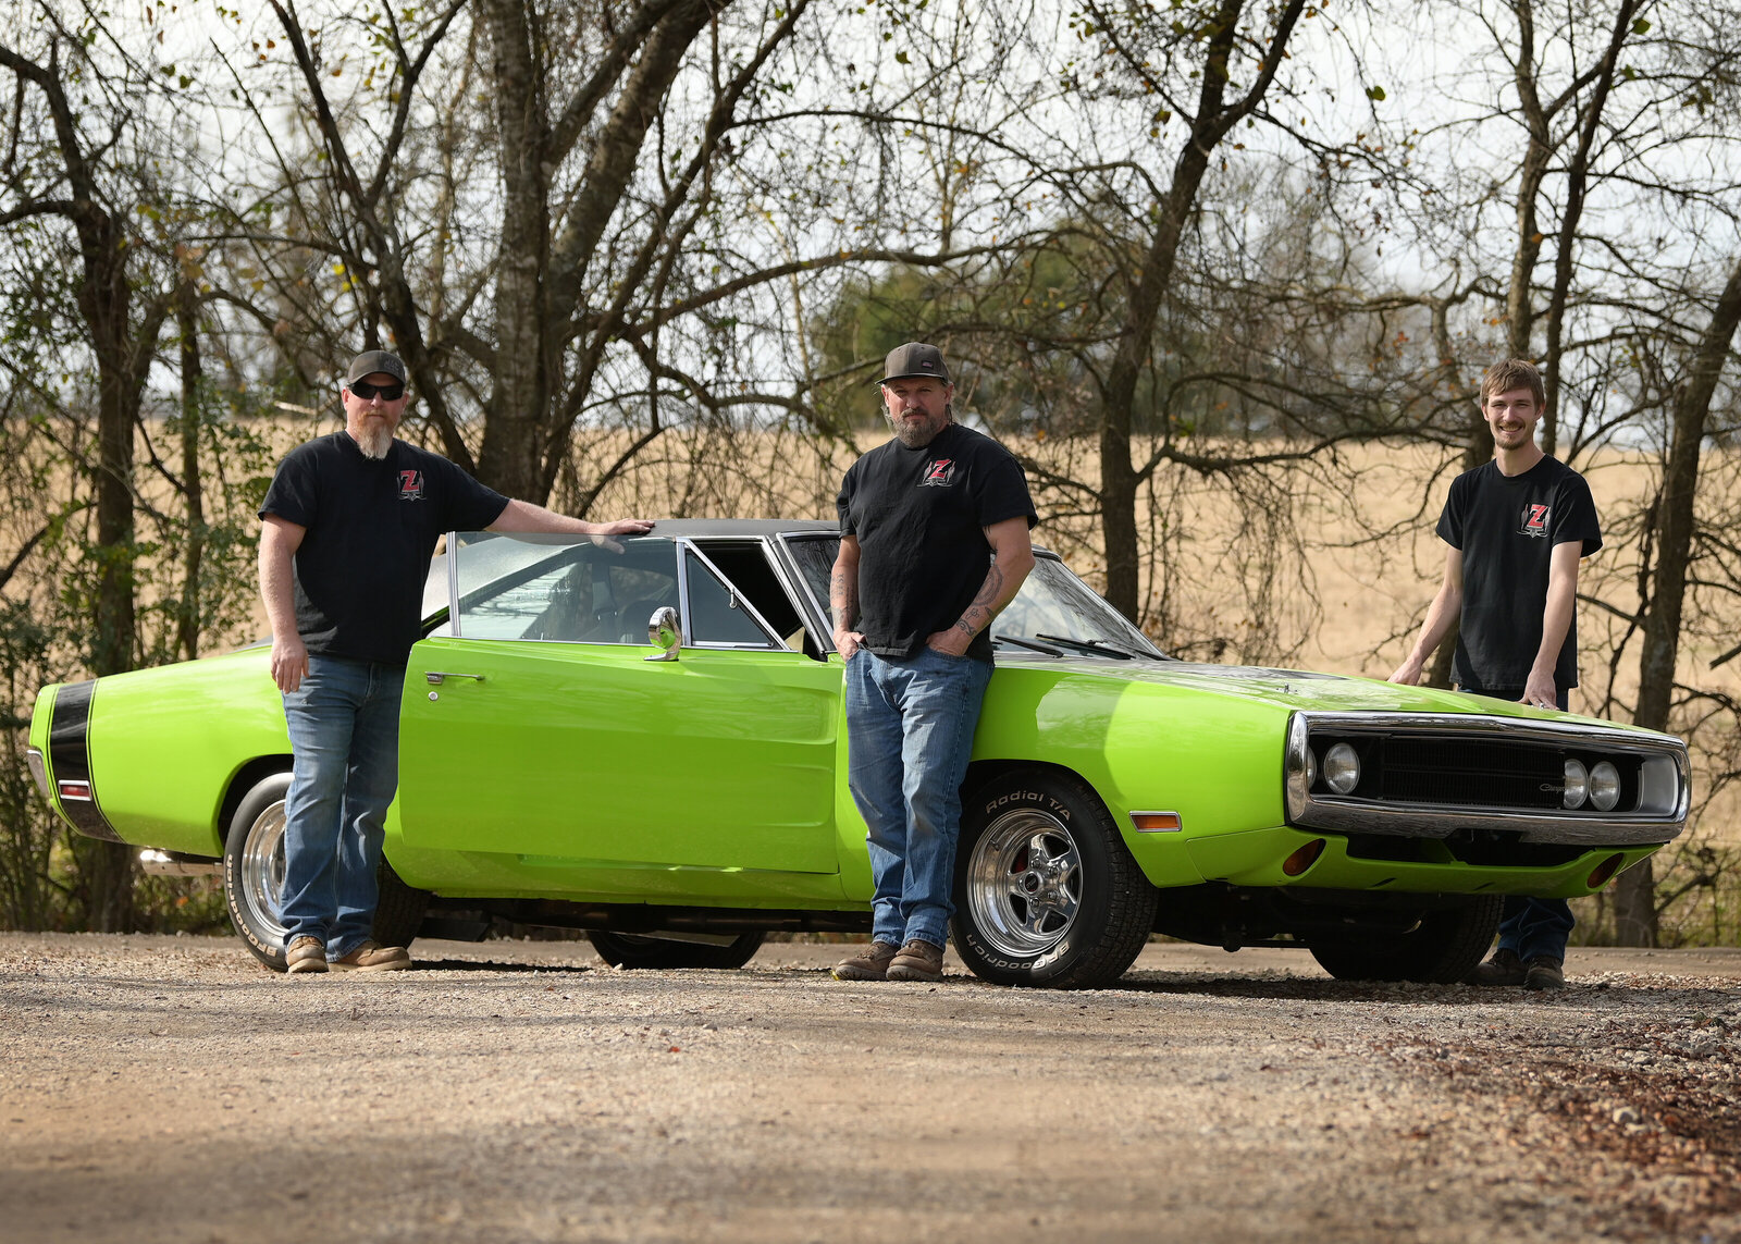
[{"label": "polished five-spoke rim inside the white-lettered front tire", "polygon": [[968,913],[1001,955],[1032,958],[1064,941],[1083,903],[1081,854],[1057,817],[1005,812],[973,843]]}]

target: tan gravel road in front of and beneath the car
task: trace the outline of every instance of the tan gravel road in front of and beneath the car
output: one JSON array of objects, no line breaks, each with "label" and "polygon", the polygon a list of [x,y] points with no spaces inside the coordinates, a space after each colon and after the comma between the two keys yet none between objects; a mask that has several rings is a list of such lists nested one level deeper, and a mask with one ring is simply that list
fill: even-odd
[{"label": "tan gravel road in front of and beneath the car", "polygon": [[1149,946],[1123,988],[0,934],[0,1239],[1731,1241],[1741,951],[1558,995]]}]

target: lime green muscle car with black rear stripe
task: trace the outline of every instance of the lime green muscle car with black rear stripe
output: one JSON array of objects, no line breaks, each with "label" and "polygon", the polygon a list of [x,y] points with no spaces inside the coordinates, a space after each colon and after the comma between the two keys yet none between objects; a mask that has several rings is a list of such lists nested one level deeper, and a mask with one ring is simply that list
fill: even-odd
[{"label": "lime green muscle car with black rear stripe", "polygon": [[[400,709],[376,936],[585,929],[632,967],[869,930],[829,523],[453,533]],[[1173,660],[1046,552],[994,624],[954,943],[1102,986],[1153,932],[1455,981],[1502,896],[1591,894],[1682,831],[1678,739],[1454,692]],[[31,767],[80,833],[223,871],[282,969],[291,749],[268,648],[45,688]]]}]

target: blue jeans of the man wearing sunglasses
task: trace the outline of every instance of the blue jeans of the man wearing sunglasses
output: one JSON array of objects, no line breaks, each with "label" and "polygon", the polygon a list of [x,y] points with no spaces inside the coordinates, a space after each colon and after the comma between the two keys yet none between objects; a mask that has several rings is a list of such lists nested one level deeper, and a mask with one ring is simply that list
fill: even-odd
[{"label": "blue jeans of the man wearing sunglasses", "polygon": [[339,958],[373,932],[404,683],[404,666],[310,655],[308,676],[284,695],[294,758],[279,903],[286,946],[319,937]]}]

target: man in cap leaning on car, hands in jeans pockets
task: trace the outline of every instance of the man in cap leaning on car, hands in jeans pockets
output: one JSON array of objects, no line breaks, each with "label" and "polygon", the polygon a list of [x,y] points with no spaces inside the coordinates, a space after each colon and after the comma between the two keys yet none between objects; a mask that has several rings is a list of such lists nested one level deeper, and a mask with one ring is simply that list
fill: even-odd
[{"label": "man in cap leaning on car, hands in jeans pockets", "polygon": [[846,660],[848,784],[876,882],[872,941],[834,976],[930,981],[944,972],[954,913],[987,627],[1034,566],[1038,517],[1015,458],[954,422],[942,350],[891,350],[881,394],[895,439],[846,472],[829,591]]}]

